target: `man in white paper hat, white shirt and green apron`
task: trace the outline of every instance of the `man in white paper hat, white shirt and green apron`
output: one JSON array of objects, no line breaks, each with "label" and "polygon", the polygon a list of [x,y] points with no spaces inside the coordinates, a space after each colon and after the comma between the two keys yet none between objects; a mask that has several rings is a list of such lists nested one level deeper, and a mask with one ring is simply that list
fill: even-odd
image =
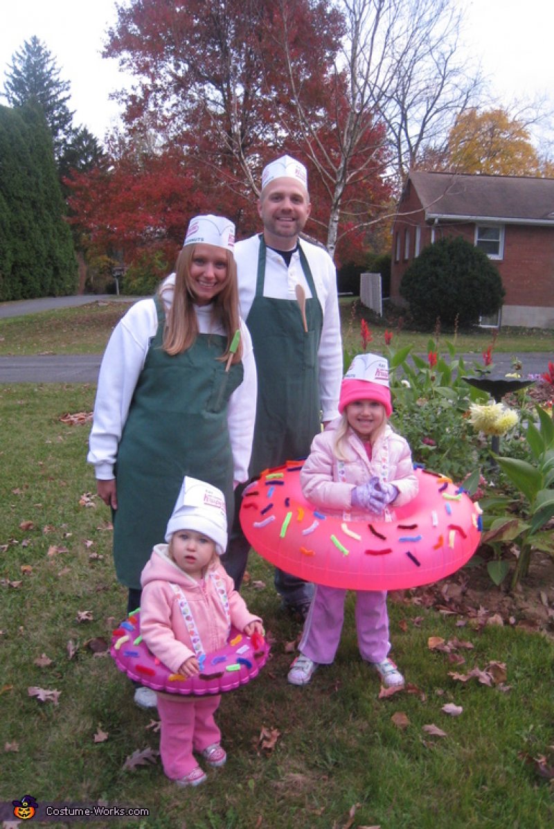
[{"label": "man in white paper hat, white shirt and green apron", "polygon": [[[310,213],[303,164],[283,156],[265,167],[258,212],[262,235],[235,245],[241,316],[250,330],[258,397],[250,477],[286,460],[305,458],[313,436],[338,415],[343,348],[337,274],[327,251],[299,240]],[[304,290],[305,325],[296,286]],[[238,513],[222,564],[241,586],[250,544]],[[313,585],[275,570],[284,607],[301,619]]]}]

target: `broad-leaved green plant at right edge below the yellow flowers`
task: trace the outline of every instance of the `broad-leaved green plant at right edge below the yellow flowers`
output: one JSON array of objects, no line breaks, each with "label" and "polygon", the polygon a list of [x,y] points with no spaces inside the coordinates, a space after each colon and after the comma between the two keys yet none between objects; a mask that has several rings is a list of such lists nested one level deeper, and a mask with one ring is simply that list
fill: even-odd
[{"label": "broad-leaved green plant at right edge below the yellow flowers", "polygon": [[[540,406],[536,407],[536,417],[535,422],[530,420],[525,431],[528,460],[496,457],[503,474],[520,497],[497,497],[493,502],[482,504],[488,512],[484,543],[498,551],[506,542],[518,545],[513,587],[527,575],[532,550],[554,555],[554,536],[552,531],[545,529],[554,516],[554,423]],[[508,562],[500,560],[495,575],[502,580],[508,571]]]}]

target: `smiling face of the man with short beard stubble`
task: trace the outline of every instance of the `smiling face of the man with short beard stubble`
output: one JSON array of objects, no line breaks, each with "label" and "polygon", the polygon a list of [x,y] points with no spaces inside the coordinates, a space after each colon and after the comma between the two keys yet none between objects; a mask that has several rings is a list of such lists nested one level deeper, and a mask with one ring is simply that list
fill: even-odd
[{"label": "smiling face of the man with short beard stubble", "polygon": [[275,178],[264,187],[258,201],[265,243],[277,250],[292,250],[308,221],[310,209],[308,193],[300,182],[294,178]]}]

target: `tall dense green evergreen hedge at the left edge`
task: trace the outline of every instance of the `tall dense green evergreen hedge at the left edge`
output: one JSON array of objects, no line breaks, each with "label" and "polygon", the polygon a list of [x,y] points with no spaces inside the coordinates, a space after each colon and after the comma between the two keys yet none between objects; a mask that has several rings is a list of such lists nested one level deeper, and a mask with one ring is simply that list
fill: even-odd
[{"label": "tall dense green evergreen hedge at the left edge", "polygon": [[74,293],[77,264],[40,109],[0,107],[0,300]]}]

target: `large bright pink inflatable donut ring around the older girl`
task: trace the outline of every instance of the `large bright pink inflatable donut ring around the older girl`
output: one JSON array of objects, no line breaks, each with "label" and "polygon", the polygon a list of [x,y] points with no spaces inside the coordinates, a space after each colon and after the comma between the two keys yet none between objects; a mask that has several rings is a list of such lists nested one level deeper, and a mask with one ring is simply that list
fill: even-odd
[{"label": "large bright pink inflatable donut ring around the older girl", "polygon": [[416,468],[417,496],[394,521],[343,521],[305,500],[301,462],[266,469],[246,487],[241,526],[252,547],[286,573],[315,584],[398,590],[444,579],[479,545],[481,510],[450,478]]}]

